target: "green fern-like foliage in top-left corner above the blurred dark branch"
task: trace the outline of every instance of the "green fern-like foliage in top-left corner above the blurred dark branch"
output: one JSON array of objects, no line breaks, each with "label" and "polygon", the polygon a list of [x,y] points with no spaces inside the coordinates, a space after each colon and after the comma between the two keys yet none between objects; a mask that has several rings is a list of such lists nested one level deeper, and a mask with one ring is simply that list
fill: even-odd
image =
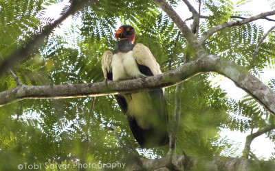
[{"label": "green fern-like foliage in top-left corner above the blurred dark branch", "polygon": [[[45,0],[6,0],[0,2],[0,53],[5,58],[21,42],[28,41],[38,31],[39,16]],[[47,2],[50,3],[50,2]]]}]

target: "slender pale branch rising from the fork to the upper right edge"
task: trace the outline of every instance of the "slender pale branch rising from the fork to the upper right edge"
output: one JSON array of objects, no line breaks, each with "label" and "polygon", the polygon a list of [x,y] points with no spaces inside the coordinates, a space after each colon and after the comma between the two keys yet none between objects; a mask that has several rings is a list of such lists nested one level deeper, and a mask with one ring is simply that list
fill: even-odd
[{"label": "slender pale branch rising from the fork to the upper right edge", "polygon": [[221,29],[224,29],[226,27],[234,27],[236,25],[245,25],[245,24],[250,23],[252,21],[256,21],[258,19],[265,18],[266,16],[272,16],[274,14],[275,14],[275,10],[270,11],[270,12],[263,12],[259,15],[252,16],[250,18],[245,18],[241,21],[234,21],[234,22],[230,22],[230,23],[227,23],[227,22],[222,23],[222,24],[217,25],[215,27],[212,27],[211,29],[208,29],[208,31],[204,32],[201,35],[201,38],[199,39],[199,44],[203,44],[203,42],[206,41],[206,39],[208,39],[210,36],[212,36],[212,34],[216,33],[217,31],[219,31]]}]

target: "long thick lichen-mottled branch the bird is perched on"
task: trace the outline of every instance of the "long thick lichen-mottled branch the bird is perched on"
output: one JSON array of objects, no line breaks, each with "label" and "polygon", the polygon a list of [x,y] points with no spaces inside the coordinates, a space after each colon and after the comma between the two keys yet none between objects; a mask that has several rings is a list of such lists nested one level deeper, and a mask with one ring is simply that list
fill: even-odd
[{"label": "long thick lichen-mottled branch the bird is perched on", "polygon": [[251,75],[243,66],[207,53],[203,53],[195,61],[190,61],[162,75],[142,79],[61,86],[18,86],[17,88],[0,92],[0,106],[24,98],[72,98],[153,90],[173,86],[194,75],[207,72],[215,72],[228,77],[239,88],[252,95],[272,114],[275,114],[275,92],[272,92],[268,86]]}]

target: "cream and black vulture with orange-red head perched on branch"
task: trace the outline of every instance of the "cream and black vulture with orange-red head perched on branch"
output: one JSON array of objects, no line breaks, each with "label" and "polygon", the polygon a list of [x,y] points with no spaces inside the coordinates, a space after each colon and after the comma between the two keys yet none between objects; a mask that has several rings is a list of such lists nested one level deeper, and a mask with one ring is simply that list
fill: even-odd
[{"label": "cream and black vulture with orange-red head perched on branch", "polygon": [[[102,71],[108,81],[145,78],[161,74],[159,64],[144,44],[135,42],[135,29],[122,25],[115,31],[113,53],[102,55]],[[168,110],[164,89],[128,94],[115,94],[115,99],[141,148],[164,146],[169,142]]]}]

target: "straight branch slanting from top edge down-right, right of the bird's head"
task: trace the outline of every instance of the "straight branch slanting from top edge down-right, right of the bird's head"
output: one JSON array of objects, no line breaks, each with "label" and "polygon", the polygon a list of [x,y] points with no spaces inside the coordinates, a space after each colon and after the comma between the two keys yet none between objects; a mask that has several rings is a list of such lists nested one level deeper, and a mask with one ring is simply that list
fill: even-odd
[{"label": "straight branch slanting from top edge down-right, right of the bird's head", "polygon": [[175,12],[175,10],[173,10],[173,8],[170,7],[170,5],[168,5],[168,3],[166,3],[166,1],[164,0],[152,0],[152,1],[156,3],[159,6],[159,8],[162,8],[164,12],[166,12],[166,14],[173,20],[175,25],[177,25],[177,27],[181,31],[181,34],[184,36],[184,38],[186,38],[186,40],[190,44],[193,44],[193,41],[195,38],[194,34],[192,34],[192,31],[189,29],[186,23],[184,23],[184,21],[181,20],[177,12]]}]

